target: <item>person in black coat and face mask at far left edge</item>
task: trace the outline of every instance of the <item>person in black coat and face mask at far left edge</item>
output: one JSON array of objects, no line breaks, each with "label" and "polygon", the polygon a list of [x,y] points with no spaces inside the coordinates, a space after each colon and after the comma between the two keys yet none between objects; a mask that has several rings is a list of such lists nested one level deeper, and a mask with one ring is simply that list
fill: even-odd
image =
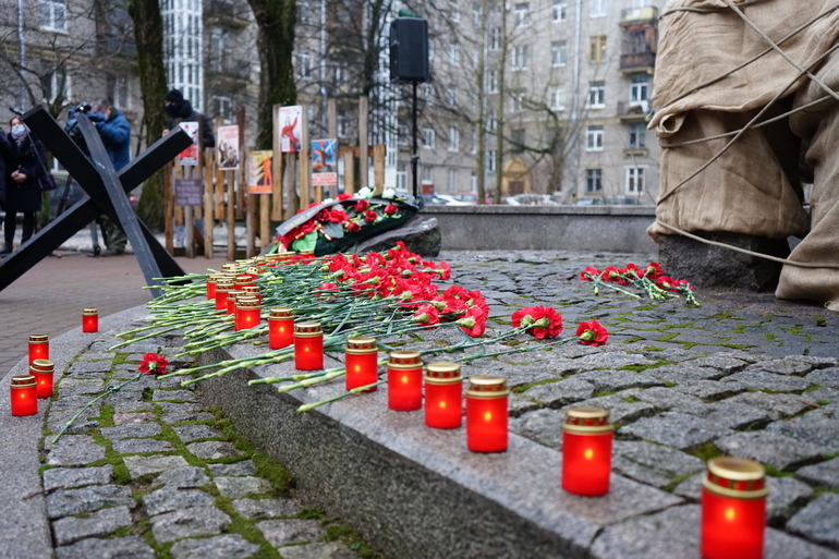
[{"label": "person in black coat and face mask at far left edge", "polygon": [[5,244],[0,251],[2,255],[12,252],[17,214],[23,214],[21,244],[35,232],[35,218],[41,200],[37,178],[47,172],[44,169],[47,156],[40,142],[29,134],[29,129],[20,117],[12,117],[9,125],[11,131],[8,136],[0,133],[0,151],[5,162]]}]

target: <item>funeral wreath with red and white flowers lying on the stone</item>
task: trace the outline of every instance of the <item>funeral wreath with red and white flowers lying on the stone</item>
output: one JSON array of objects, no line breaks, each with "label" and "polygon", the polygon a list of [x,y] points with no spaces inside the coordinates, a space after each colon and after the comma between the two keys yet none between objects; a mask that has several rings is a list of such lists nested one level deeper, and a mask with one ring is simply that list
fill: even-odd
[{"label": "funeral wreath with red and white flowers lying on the stone", "polygon": [[364,187],[357,194],[339,194],[338,199],[312,204],[277,228],[270,253],[314,252],[315,256],[343,252],[367,239],[406,223],[420,210],[386,189],[380,197]]}]

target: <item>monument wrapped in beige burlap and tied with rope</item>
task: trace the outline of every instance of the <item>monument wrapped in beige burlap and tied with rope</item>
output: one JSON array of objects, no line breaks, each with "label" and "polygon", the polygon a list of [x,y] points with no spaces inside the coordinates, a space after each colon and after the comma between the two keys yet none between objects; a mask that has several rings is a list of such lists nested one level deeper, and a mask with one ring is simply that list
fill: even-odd
[{"label": "monument wrapped in beige burlap and tied with rope", "polygon": [[[839,89],[839,51],[830,50],[839,38],[839,1],[733,3],[792,61]],[[650,127],[661,144],[661,195],[647,232],[654,240],[673,234],[667,223],[769,239],[806,235],[790,259],[832,268],[785,265],[776,295],[839,304],[839,101],[810,77],[799,77],[724,0],[671,1],[660,26]],[[761,121],[824,100],[747,130],[679,186],[733,134],[691,141],[739,131],[776,96]],[[810,216],[802,207],[802,181],[814,183]]]}]

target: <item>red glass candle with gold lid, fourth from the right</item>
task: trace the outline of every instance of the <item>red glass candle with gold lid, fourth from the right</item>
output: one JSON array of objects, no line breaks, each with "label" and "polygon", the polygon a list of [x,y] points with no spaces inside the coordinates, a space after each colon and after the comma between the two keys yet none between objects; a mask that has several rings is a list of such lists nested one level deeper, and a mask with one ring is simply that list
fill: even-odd
[{"label": "red glass candle with gold lid, fourth from the right", "polygon": [[463,424],[463,377],[460,365],[429,363],[425,367],[425,424],[453,429]]}]

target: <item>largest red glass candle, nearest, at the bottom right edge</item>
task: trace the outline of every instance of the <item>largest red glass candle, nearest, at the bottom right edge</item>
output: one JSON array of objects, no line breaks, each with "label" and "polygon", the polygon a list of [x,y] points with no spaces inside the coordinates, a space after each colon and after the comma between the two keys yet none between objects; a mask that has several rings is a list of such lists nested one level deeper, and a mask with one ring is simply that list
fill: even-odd
[{"label": "largest red glass candle, nearest, at the bottom right edge", "polygon": [[766,472],[752,460],[718,457],[702,481],[704,559],[761,559],[766,527]]}]

